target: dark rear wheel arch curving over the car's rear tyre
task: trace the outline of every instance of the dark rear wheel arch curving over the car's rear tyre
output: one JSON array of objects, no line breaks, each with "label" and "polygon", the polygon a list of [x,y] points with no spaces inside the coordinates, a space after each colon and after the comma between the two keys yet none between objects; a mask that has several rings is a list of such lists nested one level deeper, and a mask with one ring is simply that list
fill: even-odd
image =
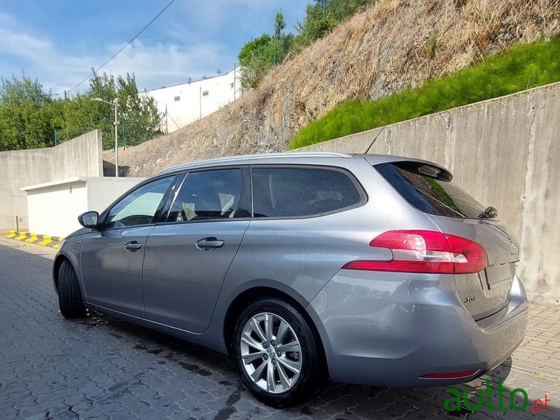
[{"label": "dark rear wheel arch curving over the car's rear tyre", "polygon": [[323,343],[323,339],[321,334],[318,331],[317,325],[314,322],[311,315],[305,309],[304,305],[300,303],[295,297],[289,295],[288,293],[279,290],[277,288],[269,287],[269,286],[255,286],[252,288],[248,288],[243,290],[239,293],[234,300],[230,303],[228,310],[225,313],[224,322],[223,322],[223,340],[225,343],[225,347],[229,354],[232,354],[233,351],[233,340],[234,340],[234,331],[235,331],[235,323],[239,316],[244,311],[249,304],[256,302],[258,300],[263,300],[266,298],[277,298],[283,300],[291,304],[295,309],[300,311],[300,314],[305,318],[305,321],[309,324],[309,328],[313,332],[315,341],[318,343],[318,352],[321,360],[321,364],[325,367],[326,372],[328,372],[328,363],[325,353],[325,344]]}]

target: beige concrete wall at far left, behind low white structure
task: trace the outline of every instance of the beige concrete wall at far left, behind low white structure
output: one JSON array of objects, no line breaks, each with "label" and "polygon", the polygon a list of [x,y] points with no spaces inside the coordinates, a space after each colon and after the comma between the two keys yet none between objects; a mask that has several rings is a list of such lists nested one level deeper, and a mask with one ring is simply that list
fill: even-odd
[{"label": "beige concrete wall at far left, behind low white structure", "polygon": [[27,193],[20,188],[73,176],[103,176],[102,132],[52,148],[0,152],[0,232],[28,228]]}]

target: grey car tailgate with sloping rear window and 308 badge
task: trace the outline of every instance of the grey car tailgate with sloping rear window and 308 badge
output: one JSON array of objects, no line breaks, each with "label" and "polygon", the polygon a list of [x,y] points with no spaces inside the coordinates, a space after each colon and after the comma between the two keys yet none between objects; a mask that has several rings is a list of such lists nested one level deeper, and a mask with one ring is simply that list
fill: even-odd
[{"label": "grey car tailgate with sloping rear window and 308 badge", "polygon": [[484,318],[502,309],[519,261],[519,246],[507,226],[454,185],[451,174],[442,177],[440,169],[426,162],[393,162],[375,168],[442,232],[471,239],[486,251],[484,270],[454,275],[458,297],[472,317]]}]

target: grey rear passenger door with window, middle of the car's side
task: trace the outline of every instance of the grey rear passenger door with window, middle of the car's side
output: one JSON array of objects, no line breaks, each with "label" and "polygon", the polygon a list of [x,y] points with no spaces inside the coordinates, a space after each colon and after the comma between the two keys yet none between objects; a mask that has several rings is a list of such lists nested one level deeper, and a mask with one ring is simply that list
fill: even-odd
[{"label": "grey rear passenger door with window, middle of the car's side", "polygon": [[148,237],[146,318],[191,332],[207,329],[228,268],[250,223],[248,168],[189,172]]}]

